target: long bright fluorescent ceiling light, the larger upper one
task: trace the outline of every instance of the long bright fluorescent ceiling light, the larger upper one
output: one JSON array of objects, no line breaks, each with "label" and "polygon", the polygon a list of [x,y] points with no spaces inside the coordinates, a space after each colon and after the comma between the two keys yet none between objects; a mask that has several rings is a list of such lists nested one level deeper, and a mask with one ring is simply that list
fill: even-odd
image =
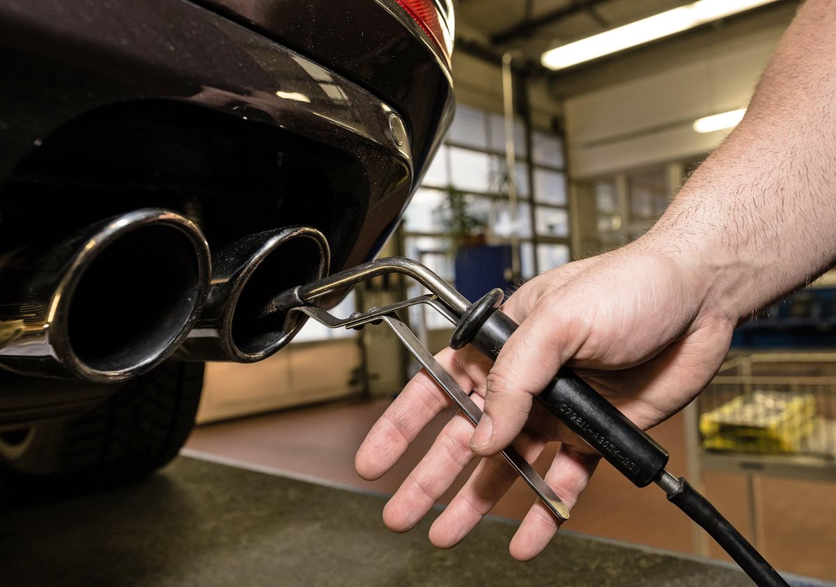
[{"label": "long bright fluorescent ceiling light, the larger upper one", "polygon": [[775,0],[699,0],[549,49],[541,61],[548,69],[567,68],[772,2]]}]

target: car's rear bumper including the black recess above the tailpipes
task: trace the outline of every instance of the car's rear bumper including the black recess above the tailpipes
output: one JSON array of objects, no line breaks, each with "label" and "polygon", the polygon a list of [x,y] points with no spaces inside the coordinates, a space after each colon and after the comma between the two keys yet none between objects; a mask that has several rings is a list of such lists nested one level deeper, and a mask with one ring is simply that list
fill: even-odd
[{"label": "car's rear bumper including the black recess above the tailpipes", "polygon": [[317,227],[339,269],[374,256],[410,194],[399,111],[191,3],[3,0],[0,61],[4,247],[43,226],[44,209],[61,230],[142,202],[185,212],[213,247]]}]

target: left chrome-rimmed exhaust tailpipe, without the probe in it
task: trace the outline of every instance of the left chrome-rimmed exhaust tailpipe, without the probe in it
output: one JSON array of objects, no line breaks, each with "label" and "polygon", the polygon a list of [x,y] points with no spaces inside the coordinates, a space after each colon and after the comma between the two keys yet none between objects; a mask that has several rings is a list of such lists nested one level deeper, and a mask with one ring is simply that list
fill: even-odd
[{"label": "left chrome-rimmed exhaust tailpipe, without the probe in it", "polygon": [[0,366],[96,383],[145,373],[186,338],[209,275],[200,230],[157,208],[0,256]]}]

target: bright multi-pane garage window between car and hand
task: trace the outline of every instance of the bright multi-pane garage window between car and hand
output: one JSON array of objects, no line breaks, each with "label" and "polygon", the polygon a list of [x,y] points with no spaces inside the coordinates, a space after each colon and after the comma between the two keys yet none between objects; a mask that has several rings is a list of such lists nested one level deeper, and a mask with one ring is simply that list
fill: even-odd
[{"label": "bright multi-pane garage window between car and hand", "polygon": [[[517,121],[514,181],[523,279],[570,260],[563,140],[553,133],[533,130],[531,145],[529,160],[525,127]],[[406,208],[405,255],[454,282],[451,241],[444,233],[451,190],[463,194],[469,213],[484,219],[489,242],[509,242],[514,231],[507,197],[509,176],[502,115],[460,105],[444,144]],[[410,295],[418,294],[421,287],[414,286]],[[421,309],[413,310],[410,321],[427,329],[449,327],[434,312]]]}]

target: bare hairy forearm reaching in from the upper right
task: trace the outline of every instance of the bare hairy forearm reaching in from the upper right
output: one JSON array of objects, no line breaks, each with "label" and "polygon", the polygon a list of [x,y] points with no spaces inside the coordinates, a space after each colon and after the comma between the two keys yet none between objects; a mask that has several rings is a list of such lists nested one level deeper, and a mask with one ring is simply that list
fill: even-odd
[{"label": "bare hairy forearm reaching in from the upper right", "polygon": [[836,259],[836,2],[810,0],[747,115],[641,239],[702,277],[706,303],[746,318]]}]

